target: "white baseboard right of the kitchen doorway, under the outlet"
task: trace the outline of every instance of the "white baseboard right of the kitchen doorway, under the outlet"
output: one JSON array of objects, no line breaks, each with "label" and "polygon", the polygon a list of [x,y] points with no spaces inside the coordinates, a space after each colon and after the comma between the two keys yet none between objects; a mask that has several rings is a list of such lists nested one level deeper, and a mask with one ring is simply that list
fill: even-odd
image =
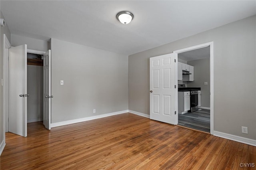
[{"label": "white baseboard right of the kitchen doorway, under the outlet", "polygon": [[244,144],[249,144],[249,145],[252,145],[252,146],[256,146],[256,140],[253,140],[253,139],[248,139],[248,138],[235,136],[235,135],[232,135],[232,134],[227,134],[227,133],[218,132],[218,131],[214,131],[213,135],[221,137],[221,138],[229,139],[229,140],[234,140],[236,142],[241,142],[241,143],[244,143]]}]

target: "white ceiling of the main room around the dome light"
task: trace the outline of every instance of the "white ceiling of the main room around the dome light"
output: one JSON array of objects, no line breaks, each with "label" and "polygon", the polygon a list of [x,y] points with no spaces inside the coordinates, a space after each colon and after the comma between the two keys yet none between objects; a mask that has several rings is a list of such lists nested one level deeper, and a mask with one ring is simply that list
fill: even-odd
[{"label": "white ceiling of the main room around the dome light", "polygon": [[[11,34],[131,55],[256,14],[255,0],[5,1]],[[129,10],[130,24],[116,20]]]}]

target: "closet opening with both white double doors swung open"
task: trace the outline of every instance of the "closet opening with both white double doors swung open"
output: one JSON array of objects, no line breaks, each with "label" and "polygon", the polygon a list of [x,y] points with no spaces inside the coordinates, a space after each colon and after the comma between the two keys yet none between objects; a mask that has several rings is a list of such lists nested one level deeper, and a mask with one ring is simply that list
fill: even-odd
[{"label": "closet opening with both white double doors swung open", "polygon": [[50,130],[51,51],[27,49],[26,44],[7,50],[6,87],[9,88],[5,132],[26,137],[27,123],[36,121],[43,121],[43,126]]}]

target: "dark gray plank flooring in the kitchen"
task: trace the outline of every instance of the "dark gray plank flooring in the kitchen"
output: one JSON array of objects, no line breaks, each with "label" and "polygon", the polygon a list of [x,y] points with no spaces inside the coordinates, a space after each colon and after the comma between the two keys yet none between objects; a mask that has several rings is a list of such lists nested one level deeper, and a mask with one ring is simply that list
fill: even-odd
[{"label": "dark gray plank flooring in the kitchen", "polygon": [[210,132],[210,110],[201,109],[193,113],[179,114],[178,125]]}]

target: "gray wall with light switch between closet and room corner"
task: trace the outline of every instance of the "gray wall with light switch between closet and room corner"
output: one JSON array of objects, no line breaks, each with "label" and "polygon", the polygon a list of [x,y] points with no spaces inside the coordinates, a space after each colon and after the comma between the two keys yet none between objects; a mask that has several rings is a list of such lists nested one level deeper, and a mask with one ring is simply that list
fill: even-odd
[{"label": "gray wall with light switch between closet and room corner", "polygon": [[52,123],[128,110],[127,55],[56,39],[51,48]]}]

